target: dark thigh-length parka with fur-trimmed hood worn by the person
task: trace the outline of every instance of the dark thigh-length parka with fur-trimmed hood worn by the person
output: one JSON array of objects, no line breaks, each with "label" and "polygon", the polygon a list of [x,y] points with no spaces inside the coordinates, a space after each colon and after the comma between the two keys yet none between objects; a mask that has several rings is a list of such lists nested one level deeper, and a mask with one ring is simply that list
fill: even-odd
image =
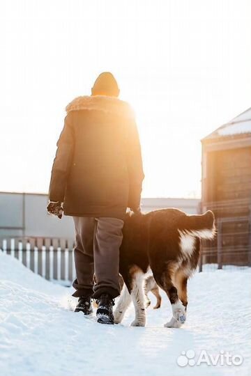
[{"label": "dark thigh-length parka with fur-trimmed hood worn by the person", "polygon": [[124,219],[140,203],[142,155],[128,103],[105,95],[77,97],[66,107],[50,180],[50,201],[64,214]]}]

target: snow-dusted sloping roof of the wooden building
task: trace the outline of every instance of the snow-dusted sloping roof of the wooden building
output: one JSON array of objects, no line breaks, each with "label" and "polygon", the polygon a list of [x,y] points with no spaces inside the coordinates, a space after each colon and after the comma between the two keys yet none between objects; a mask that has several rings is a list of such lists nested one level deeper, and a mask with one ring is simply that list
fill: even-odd
[{"label": "snow-dusted sloping roof of the wooden building", "polygon": [[204,140],[247,133],[251,134],[251,107],[230,120],[229,123],[222,125],[211,134],[208,134]]}]

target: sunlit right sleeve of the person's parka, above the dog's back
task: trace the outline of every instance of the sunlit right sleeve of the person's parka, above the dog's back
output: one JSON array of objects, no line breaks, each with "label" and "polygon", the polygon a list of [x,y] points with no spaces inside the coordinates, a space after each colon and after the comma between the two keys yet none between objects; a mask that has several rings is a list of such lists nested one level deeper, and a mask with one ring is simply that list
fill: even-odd
[{"label": "sunlit right sleeve of the person's parka, above the dog's back", "polygon": [[140,205],[144,171],[139,133],[135,120],[130,121],[128,124],[126,150],[129,175],[128,207],[137,208]]}]

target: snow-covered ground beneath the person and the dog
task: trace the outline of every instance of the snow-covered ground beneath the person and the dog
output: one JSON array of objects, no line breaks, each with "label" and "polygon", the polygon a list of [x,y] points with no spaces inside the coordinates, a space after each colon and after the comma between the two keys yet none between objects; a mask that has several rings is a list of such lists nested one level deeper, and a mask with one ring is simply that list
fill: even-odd
[{"label": "snow-covered ground beneath the person and the dog", "polygon": [[[72,290],[45,281],[0,252],[0,373],[3,376],[241,375],[251,363],[250,269],[196,274],[189,283],[188,320],[167,329],[169,301],[147,310],[145,328],[109,326],[70,311]],[[153,303],[155,298],[151,296]],[[76,299],[73,300],[74,304]],[[188,357],[182,352],[188,352]],[[198,365],[222,357],[216,366]],[[220,353],[221,351],[221,353]],[[241,355],[226,365],[226,353]],[[206,354],[206,355],[205,355]],[[179,357],[179,358],[178,358]],[[181,364],[178,366],[177,363]],[[238,363],[240,358],[234,358]]]}]

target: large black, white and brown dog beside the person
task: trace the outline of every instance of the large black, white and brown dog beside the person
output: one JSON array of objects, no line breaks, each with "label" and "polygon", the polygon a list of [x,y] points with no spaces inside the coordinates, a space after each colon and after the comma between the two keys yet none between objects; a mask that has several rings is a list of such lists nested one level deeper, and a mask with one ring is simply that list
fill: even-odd
[{"label": "large black, white and brown dog beside the person", "polygon": [[200,240],[214,236],[215,219],[210,210],[197,215],[174,208],[127,213],[119,263],[125,284],[114,311],[116,324],[123,320],[132,300],[135,320],[131,326],[145,326],[144,278],[151,269],[155,282],[172,304],[172,318],[164,326],[181,327],[188,306],[187,283],[197,269]]}]

